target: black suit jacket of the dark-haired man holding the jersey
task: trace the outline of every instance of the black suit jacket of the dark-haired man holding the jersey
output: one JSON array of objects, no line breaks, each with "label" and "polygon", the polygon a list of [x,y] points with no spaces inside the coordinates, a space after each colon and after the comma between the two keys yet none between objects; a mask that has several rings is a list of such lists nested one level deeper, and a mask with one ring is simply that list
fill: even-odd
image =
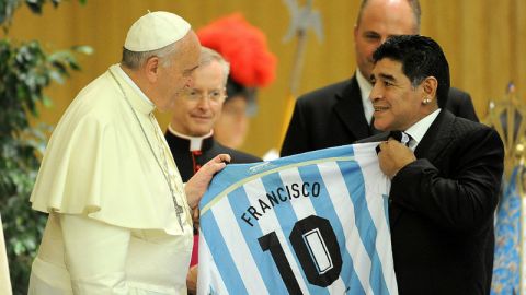
[{"label": "black suit jacket of the dark-haired man holding the jersey", "polygon": [[504,158],[499,134],[442,110],[414,153],[389,192],[399,293],[490,294]]}]

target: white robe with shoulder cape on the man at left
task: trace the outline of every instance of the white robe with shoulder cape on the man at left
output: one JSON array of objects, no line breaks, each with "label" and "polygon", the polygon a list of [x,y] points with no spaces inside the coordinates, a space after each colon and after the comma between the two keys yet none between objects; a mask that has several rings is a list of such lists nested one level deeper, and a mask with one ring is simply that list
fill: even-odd
[{"label": "white robe with shoulder cape on the man at left", "polygon": [[[92,266],[89,264],[96,259],[78,257],[75,247],[67,246],[76,245],[76,240],[65,240],[62,235],[62,217],[68,215],[83,216],[88,222],[91,220],[90,229],[94,228],[95,234],[96,226],[101,226],[101,233],[104,226],[127,233],[127,239],[125,234],[122,240],[127,243],[123,248],[126,255],[117,255],[122,253],[121,250],[113,255],[114,249],[100,248],[100,256],[107,260],[104,263],[124,268],[118,271],[122,273],[122,278],[116,280],[118,287],[115,285],[110,293],[186,293],[192,219],[183,184],[164,137],[151,115],[153,105],[140,96],[138,87],[130,85],[117,67],[112,66],[79,93],[48,143],[31,196],[33,209],[49,213],[49,219],[33,263],[30,294],[71,294],[72,288],[79,293],[82,290],[85,294],[106,294],[106,288],[98,288],[99,285],[115,284],[110,276],[107,282],[104,281],[107,278],[104,278],[106,271],[102,267],[99,272],[95,268],[98,273],[91,273],[90,278],[78,278],[83,274],[75,272],[76,263],[85,263],[90,268]],[[110,71],[119,81],[129,104]],[[156,161],[157,156],[162,162],[161,149],[168,155],[176,201],[184,209],[182,224],[175,214],[162,165]],[[71,224],[79,223],[73,220]],[[75,228],[69,226],[67,231],[75,236]],[[83,228],[78,231],[82,233]],[[88,231],[85,235],[89,235]],[[71,249],[66,249],[65,245]],[[93,247],[90,255],[94,252],[96,256],[96,249]],[[73,255],[68,257],[71,251]],[[71,276],[76,276],[73,283]],[[99,278],[100,282],[83,283],[84,279],[89,281],[91,278]],[[104,287],[112,290],[112,286]]]}]

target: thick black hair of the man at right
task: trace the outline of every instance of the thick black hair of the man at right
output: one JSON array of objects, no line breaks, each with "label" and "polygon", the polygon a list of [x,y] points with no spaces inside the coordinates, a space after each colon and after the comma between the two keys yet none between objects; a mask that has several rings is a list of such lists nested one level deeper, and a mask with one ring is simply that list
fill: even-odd
[{"label": "thick black hair of the man at right", "polygon": [[413,87],[427,76],[438,81],[436,96],[438,107],[444,108],[449,92],[449,64],[441,46],[430,37],[420,35],[400,35],[388,38],[373,54],[375,63],[389,58],[402,63],[402,71]]}]

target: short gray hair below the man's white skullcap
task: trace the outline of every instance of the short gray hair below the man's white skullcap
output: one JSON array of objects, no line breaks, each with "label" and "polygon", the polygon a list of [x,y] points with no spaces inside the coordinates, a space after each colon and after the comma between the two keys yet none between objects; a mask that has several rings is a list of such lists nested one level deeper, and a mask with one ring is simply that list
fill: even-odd
[{"label": "short gray hair below the man's white skullcap", "polygon": [[121,63],[132,70],[137,70],[145,64],[151,57],[158,57],[161,60],[161,67],[170,67],[173,55],[179,52],[179,44],[174,42],[160,49],[150,51],[132,51],[123,47],[123,58]]}]

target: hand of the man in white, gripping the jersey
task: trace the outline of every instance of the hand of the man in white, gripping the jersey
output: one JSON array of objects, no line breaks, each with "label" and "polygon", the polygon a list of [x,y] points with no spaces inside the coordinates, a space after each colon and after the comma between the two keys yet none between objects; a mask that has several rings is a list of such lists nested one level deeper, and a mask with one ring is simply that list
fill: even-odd
[{"label": "hand of the man in white, gripping the jersey", "polygon": [[222,170],[229,162],[230,155],[219,154],[203,165],[199,170],[190,178],[184,187],[190,208],[195,209],[197,206],[214,175]]}]

